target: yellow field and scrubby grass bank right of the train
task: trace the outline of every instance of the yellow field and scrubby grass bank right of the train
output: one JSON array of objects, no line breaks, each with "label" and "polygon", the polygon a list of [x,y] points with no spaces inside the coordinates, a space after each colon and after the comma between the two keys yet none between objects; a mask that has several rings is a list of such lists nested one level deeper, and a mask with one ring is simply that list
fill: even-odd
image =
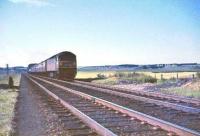
[{"label": "yellow field and scrubby grass bank right of the train", "polygon": [[160,91],[167,94],[200,98],[200,80],[197,78],[196,72],[79,71],[76,78],[98,77],[103,78],[92,82],[115,85],[130,90]]}]

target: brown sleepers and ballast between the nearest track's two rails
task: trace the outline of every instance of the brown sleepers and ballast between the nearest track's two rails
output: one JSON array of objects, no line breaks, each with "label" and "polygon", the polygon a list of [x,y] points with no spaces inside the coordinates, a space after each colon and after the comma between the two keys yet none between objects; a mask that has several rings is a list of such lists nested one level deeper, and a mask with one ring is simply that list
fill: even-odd
[{"label": "brown sleepers and ballast between the nearest track's two rails", "polygon": [[117,135],[164,136],[169,133],[161,129],[155,129],[155,127],[152,125],[143,123],[137,119],[131,119],[128,116],[124,116],[122,113],[108,109],[102,105],[98,105],[93,101],[86,100],[38,79],[34,80],[38,81],[49,91],[56,94],[58,97],[76,107],[78,110],[88,115],[109,130],[113,131]]}]

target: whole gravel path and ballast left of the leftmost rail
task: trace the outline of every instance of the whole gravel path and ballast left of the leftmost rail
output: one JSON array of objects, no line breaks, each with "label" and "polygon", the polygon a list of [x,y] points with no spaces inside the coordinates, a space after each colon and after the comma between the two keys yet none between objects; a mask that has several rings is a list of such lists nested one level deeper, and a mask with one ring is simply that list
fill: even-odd
[{"label": "whole gravel path and ballast left of the leftmost rail", "polygon": [[78,136],[84,135],[84,128],[88,131],[85,136],[96,135],[24,76],[13,124],[14,136]]}]

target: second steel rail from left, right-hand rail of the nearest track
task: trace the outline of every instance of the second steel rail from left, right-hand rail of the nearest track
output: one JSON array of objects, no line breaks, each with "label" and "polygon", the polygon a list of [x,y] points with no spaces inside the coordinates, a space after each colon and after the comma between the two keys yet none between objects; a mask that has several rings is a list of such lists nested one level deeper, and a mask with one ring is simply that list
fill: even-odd
[{"label": "second steel rail from left, right-hand rail of the nearest track", "polygon": [[82,93],[82,92],[72,90],[70,88],[55,84],[53,82],[50,82],[50,81],[47,81],[47,80],[44,80],[44,79],[41,79],[41,78],[38,78],[38,77],[35,77],[35,76],[31,76],[31,77],[36,78],[40,81],[43,81],[47,84],[51,84],[55,87],[58,87],[60,89],[65,90],[65,91],[76,94],[78,96],[84,97],[86,99],[93,100],[96,103],[99,103],[99,104],[105,105],[109,108],[112,108],[114,110],[120,111],[121,113],[127,114],[130,117],[142,120],[142,121],[144,121],[148,124],[151,124],[153,126],[159,126],[160,128],[162,128],[166,131],[174,132],[174,133],[176,133],[180,136],[200,136],[200,133],[197,132],[197,131],[194,131],[194,130],[191,130],[191,129],[188,129],[188,128],[185,128],[185,127],[182,127],[182,126],[179,126],[179,125],[176,125],[176,124],[173,124],[173,123],[170,123],[170,122],[167,122],[167,121],[164,121],[164,120],[161,120],[161,119],[149,116],[149,115],[146,115],[146,114],[138,112],[138,111],[128,109],[126,107],[114,104],[112,102],[108,102],[106,100],[103,100],[103,99],[100,99],[100,98],[97,98],[97,97],[94,97],[94,96],[91,96],[91,95],[88,95],[88,94],[85,94],[85,93]]}]

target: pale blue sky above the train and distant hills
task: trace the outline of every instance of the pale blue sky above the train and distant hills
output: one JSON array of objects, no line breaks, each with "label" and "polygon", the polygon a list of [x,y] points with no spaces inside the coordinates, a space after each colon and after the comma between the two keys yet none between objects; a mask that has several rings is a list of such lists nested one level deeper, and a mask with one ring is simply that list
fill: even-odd
[{"label": "pale blue sky above the train and distant hills", "polygon": [[199,0],[0,0],[0,67],[200,63]]}]

